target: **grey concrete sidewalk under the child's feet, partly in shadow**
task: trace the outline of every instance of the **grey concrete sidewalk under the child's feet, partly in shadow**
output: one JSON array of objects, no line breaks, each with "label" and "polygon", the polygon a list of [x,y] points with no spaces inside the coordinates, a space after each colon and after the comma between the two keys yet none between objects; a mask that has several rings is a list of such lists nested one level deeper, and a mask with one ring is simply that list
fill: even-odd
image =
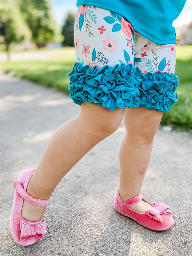
[{"label": "grey concrete sidewalk under the child's feet, partly in shadow", "polygon": [[35,168],[59,125],[79,106],[61,93],[0,74],[0,256],[192,256],[192,136],[158,130],[142,193],[171,207],[174,226],[146,229],[113,208],[119,184],[123,125],[96,145],[52,195],[41,242],[21,247],[12,239],[12,183]]}]

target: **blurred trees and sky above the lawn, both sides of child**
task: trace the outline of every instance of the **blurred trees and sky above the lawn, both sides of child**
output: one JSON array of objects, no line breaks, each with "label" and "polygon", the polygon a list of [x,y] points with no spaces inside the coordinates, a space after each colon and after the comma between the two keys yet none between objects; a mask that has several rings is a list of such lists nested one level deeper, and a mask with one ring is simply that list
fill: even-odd
[{"label": "blurred trees and sky above the lawn, both sides of child", "polygon": [[[74,46],[76,0],[0,0],[1,49]],[[177,43],[192,44],[192,0],[174,21]]]}]

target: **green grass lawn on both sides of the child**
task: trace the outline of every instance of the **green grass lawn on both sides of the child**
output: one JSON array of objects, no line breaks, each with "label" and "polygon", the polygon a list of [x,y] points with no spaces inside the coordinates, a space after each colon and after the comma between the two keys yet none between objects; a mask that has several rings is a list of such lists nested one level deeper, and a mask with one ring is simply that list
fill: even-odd
[{"label": "green grass lawn on both sides of the child", "polygon": [[[52,51],[54,55],[48,60],[3,62],[0,69],[68,93],[68,73],[75,62],[75,51],[73,48]],[[163,114],[161,123],[192,129],[192,45],[177,47],[175,75],[179,77],[178,102]]]}]

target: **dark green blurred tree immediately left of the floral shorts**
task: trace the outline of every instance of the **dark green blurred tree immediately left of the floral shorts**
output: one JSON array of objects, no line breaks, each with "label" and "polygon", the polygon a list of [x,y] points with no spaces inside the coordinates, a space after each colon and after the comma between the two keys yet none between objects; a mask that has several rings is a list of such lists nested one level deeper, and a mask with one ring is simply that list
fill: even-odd
[{"label": "dark green blurred tree immediately left of the floral shorts", "polygon": [[70,12],[67,15],[61,34],[64,36],[64,45],[74,46],[74,23],[76,14]]}]

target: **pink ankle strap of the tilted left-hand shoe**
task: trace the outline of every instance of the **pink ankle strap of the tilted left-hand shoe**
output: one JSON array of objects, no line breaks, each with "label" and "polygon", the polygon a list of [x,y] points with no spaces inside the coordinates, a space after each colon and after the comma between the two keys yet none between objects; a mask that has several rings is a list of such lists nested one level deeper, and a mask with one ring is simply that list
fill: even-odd
[{"label": "pink ankle strap of the tilted left-hand shoe", "polygon": [[49,199],[38,199],[38,198],[34,198],[32,195],[29,195],[25,189],[23,188],[23,185],[18,181],[16,180],[14,183],[13,183],[13,186],[15,188],[15,190],[17,191],[17,193],[23,198],[25,199],[26,201],[28,201],[29,203],[31,204],[35,204],[37,206],[46,206],[48,203],[49,203]]}]

